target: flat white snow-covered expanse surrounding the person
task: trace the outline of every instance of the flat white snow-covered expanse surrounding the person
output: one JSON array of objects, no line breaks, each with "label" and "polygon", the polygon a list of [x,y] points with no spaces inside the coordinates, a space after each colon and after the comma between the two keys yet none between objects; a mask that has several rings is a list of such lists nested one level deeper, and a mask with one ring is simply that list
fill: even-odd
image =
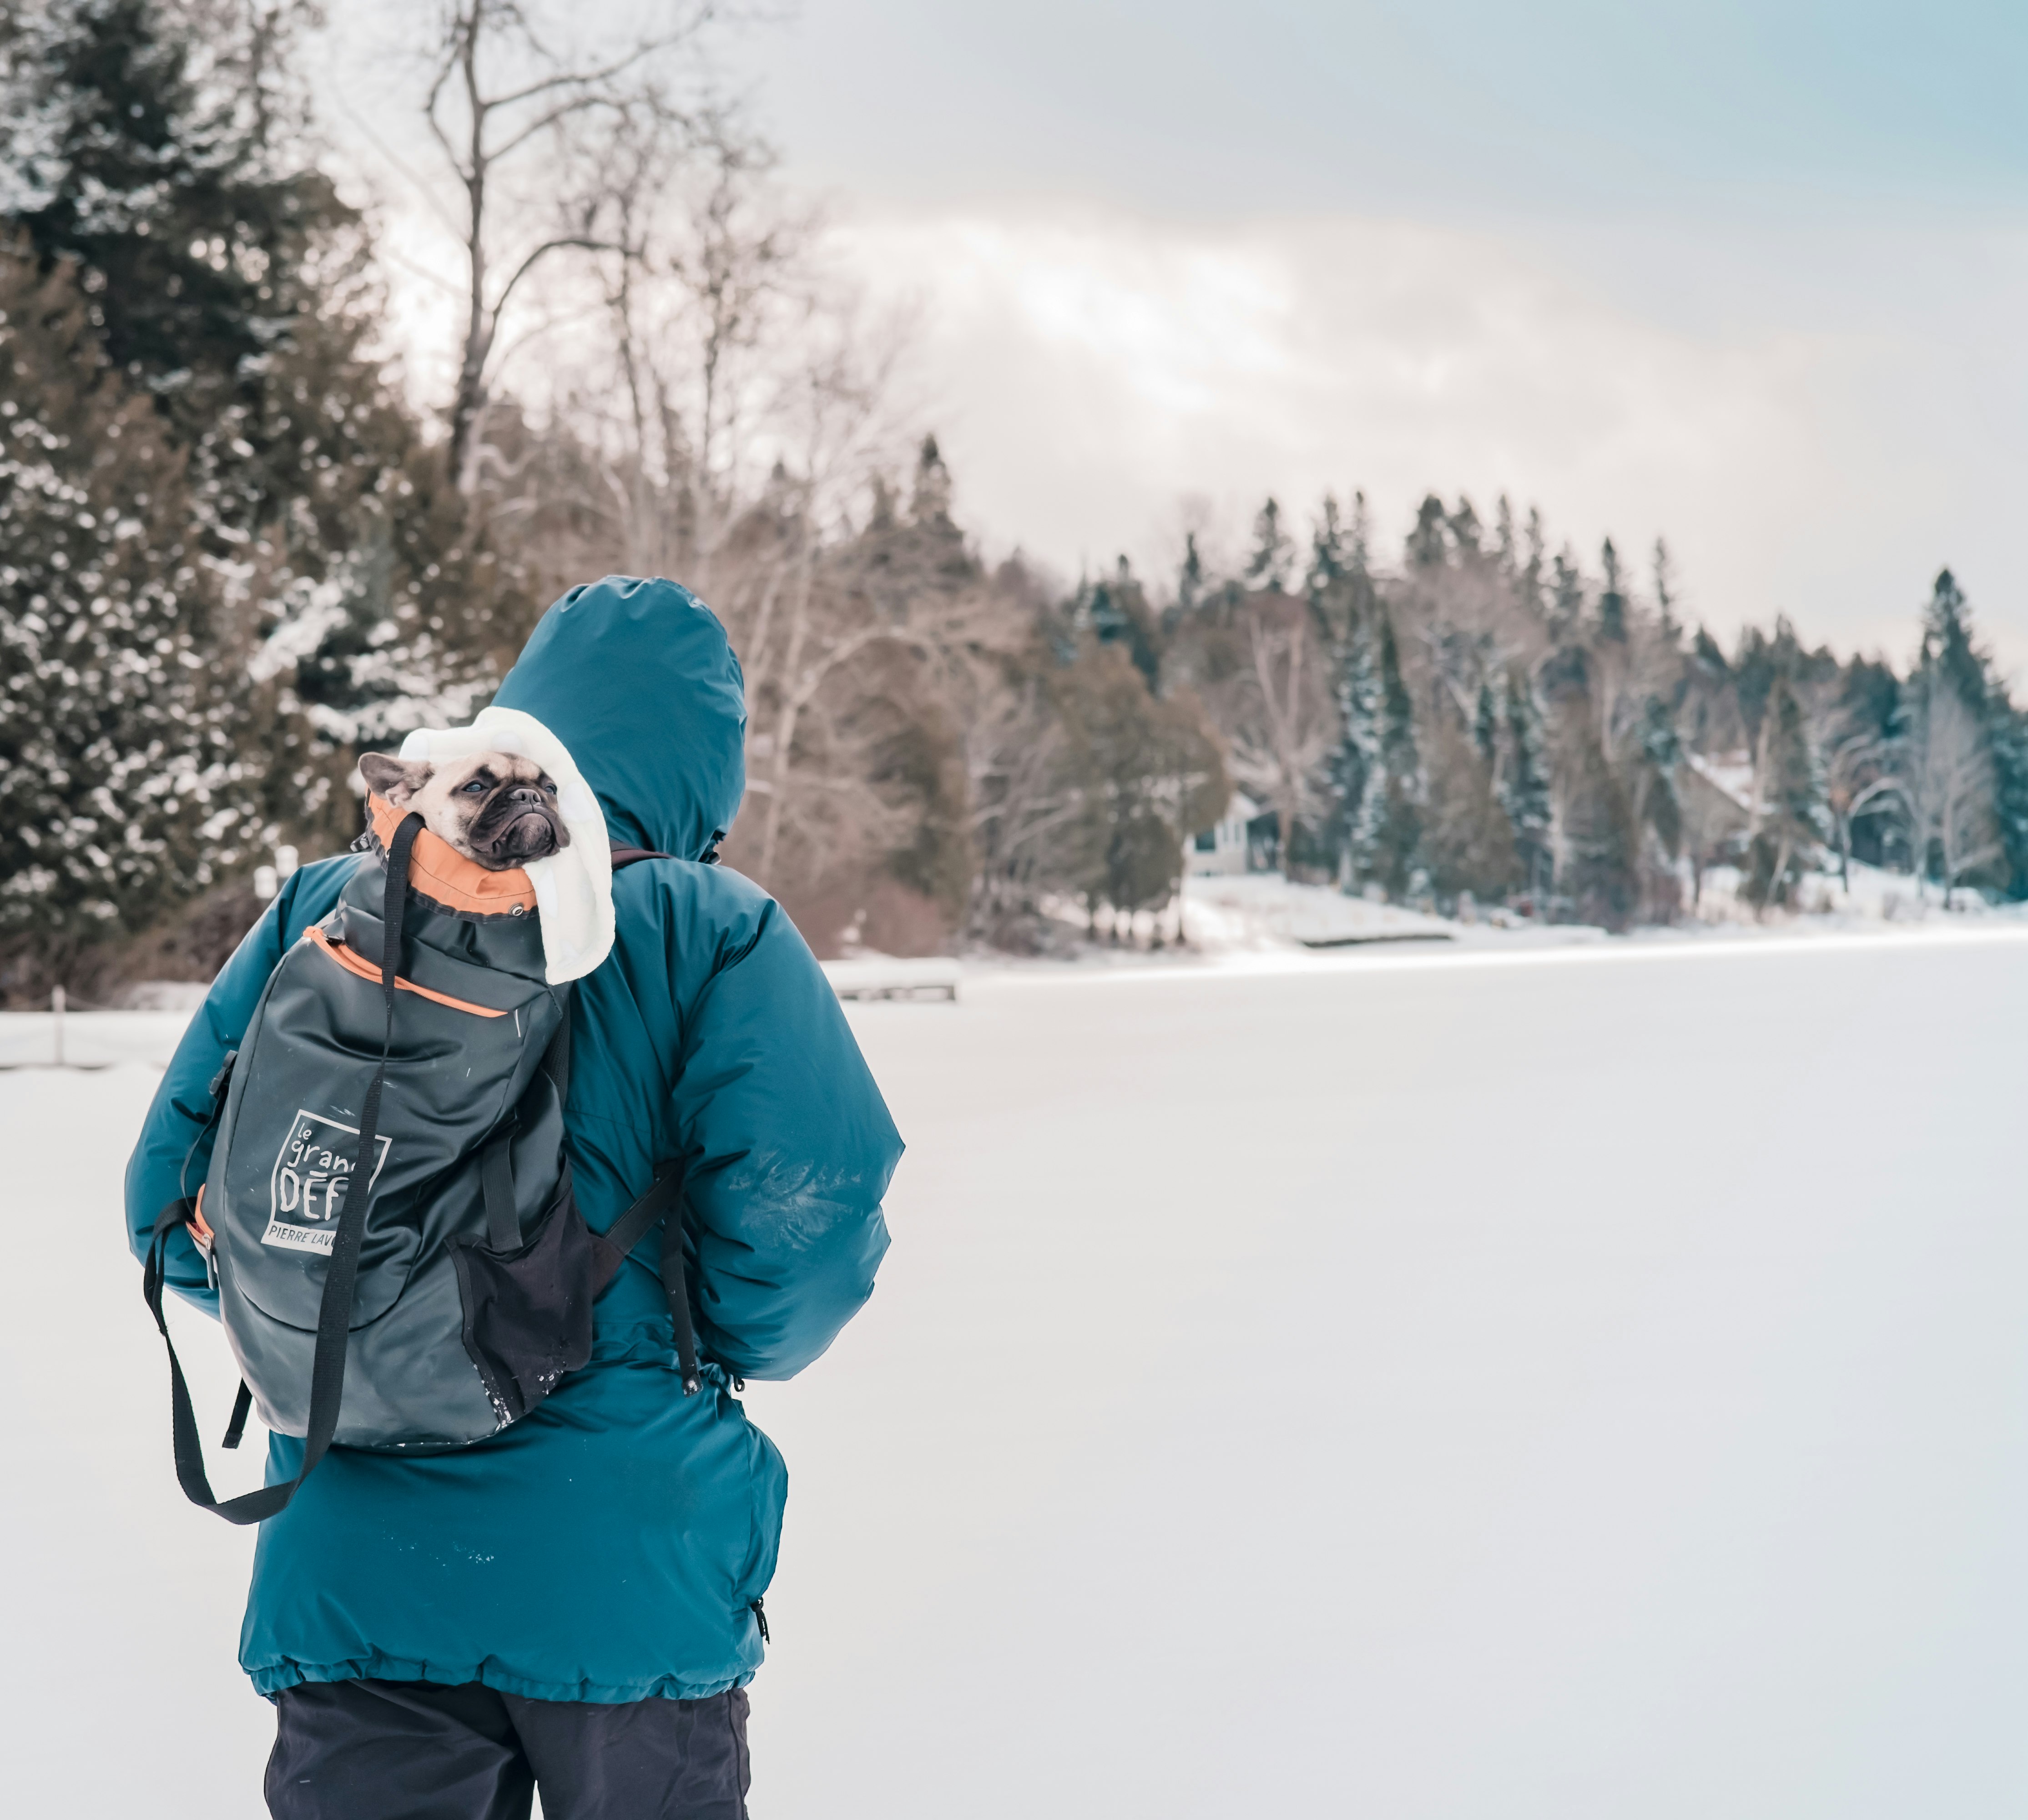
[{"label": "flat white snow-covered expanse surrounding the person", "polygon": [[[2028,1812],[2024,931],[852,1019],[911,1154],[866,1315],[748,1392],[760,1820]],[[154,1079],[0,1073],[6,1808],[256,1820],[249,1538],[120,1242]]]}]

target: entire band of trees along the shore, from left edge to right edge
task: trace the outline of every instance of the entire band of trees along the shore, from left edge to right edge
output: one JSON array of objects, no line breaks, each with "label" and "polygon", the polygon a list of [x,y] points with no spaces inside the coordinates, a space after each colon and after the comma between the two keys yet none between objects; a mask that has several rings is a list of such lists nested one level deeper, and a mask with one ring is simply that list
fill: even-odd
[{"label": "entire band of trees along the shore, from left edge to right edge", "polygon": [[[673,574],[748,682],[726,858],[823,948],[1034,948],[1166,905],[1237,785],[1290,877],[1626,927],[1825,854],[2028,895],[2028,739],[1939,576],[1906,672],[1722,649],[1667,554],[1539,513],[1261,507],[1227,564],[982,560],[907,329],[710,81],[712,10],[554,49],[414,20],[446,400],[385,353],[296,0],[0,6],[0,978],[201,976],[359,751],[487,698],[541,607]],[[556,39],[562,43],[562,39]],[[408,168],[408,166],[404,166]],[[1714,779],[1718,779],[1714,783]]]}]

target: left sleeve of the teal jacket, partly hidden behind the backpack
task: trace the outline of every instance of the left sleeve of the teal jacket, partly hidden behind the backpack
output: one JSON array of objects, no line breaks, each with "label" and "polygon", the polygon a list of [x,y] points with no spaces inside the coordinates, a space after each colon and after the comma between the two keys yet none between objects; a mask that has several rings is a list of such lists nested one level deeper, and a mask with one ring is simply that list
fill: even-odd
[{"label": "left sleeve of the teal jacket, partly hidden behind the backpack", "polygon": [[[245,1039],[268,976],[280,966],[288,943],[331,913],[357,864],[355,858],[341,856],[294,872],[211,982],[203,1008],[191,1019],[170,1057],[162,1086],[154,1090],[140,1142],[128,1159],[128,1248],[136,1258],[148,1254],[156,1215],[170,1201],[195,1195],[211,1169],[211,1081],[227,1051]],[[183,1228],[168,1242],[166,1280],[187,1303],[217,1315],[219,1292],[207,1284],[205,1260]]]}]

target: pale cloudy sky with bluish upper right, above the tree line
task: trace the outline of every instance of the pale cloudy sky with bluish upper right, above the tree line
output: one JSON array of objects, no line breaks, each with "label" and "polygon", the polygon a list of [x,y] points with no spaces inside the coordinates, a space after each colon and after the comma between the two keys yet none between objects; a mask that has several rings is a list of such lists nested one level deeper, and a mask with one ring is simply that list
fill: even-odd
[{"label": "pale cloudy sky with bluish upper right, above the tree line", "polygon": [[2028,668],[2028,8],[801,0],[738,79],[990,550],[1363,487],[1667,536],[1714,629]]}]

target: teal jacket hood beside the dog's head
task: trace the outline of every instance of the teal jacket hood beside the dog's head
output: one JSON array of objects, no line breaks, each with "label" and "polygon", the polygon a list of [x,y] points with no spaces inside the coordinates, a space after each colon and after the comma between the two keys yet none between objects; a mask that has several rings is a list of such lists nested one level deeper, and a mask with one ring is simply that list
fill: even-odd
[{"label": "teal jacket hood beside the dog's head", "polygon": [[578,761],[621,846],[704,858],[746,791],[746,682],[690,588],[608,574],[572,588],[507,672],[499,708]]}]

